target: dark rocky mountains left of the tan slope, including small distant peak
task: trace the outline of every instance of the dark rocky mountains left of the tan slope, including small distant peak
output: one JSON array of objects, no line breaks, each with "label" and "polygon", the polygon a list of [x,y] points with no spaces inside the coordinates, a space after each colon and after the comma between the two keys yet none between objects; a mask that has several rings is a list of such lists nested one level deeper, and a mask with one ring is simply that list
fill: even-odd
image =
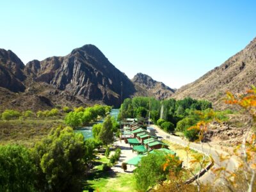
[{"label": "dark rocky mountains left of the tan slope, including small distant peak", "polygon": [[166,99],[174,92],[147,75],[137,74],[131,81],[94,45],[27,65],[12,51],[0,49],[0,79],[1,111],[94,103],[118,107],[127,97]]}]

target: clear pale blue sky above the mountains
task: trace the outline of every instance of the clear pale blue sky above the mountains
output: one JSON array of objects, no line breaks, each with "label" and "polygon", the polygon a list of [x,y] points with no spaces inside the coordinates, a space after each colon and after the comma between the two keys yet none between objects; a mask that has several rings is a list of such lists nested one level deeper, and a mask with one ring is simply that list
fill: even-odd
[{"label": "clear pale blue sky above the mountains", "polygon": [[256,36],[256,1],[1,1],[0,14],[0,47],[24,63],[94,44],[128,77],[143,72],[172,88]]}]

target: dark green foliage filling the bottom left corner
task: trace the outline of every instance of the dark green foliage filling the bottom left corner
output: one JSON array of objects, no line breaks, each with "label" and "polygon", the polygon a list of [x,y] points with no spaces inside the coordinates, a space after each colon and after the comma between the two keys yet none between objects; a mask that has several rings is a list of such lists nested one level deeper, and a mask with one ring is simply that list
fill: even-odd
[{"label": "dark green foliage filling the bottom left corner", "polygon": [[0,146],[0,191],[35,191],[35,166],[28,148]]}]

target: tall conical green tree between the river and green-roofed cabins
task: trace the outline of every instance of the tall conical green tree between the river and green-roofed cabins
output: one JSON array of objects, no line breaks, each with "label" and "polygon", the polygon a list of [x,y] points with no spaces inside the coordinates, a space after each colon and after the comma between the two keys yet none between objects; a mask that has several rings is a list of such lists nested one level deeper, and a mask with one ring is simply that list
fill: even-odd
[{"label": "tall conical green tree between the river and green-roofed cabins", "polygon": [[114,141],[113,138],[113,125],[111,122],[111,116],[106,116],[106,119],[104,120],[102,124],[102,129],[99,133],[99,139],[102,141],[104,145],[108,145],[109,143],[112,143]]}]

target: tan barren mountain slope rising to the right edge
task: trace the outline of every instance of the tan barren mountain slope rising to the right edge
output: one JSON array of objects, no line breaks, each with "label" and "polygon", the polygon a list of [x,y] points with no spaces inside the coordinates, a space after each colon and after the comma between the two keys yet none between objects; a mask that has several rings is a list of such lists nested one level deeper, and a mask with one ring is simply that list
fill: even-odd
[{"label": "tan barren mountain slope rising to the right edge", "polygon": [[193,83],[182,86],[172,96],[211,100],[216,108],[225,108],[221,100],[225,92],[244,93],[256,84],[256,38],[242,51],[230,57],[220,67],[207,72]]}]

